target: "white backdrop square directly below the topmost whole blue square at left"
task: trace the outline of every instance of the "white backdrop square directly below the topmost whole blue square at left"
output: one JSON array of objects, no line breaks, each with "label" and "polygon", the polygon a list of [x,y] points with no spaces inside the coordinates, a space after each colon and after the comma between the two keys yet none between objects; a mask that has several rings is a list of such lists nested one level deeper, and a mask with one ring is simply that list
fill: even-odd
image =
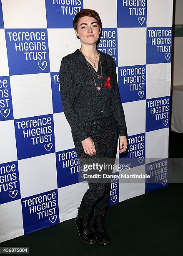
[{"label": "white backdrop square directly below the topmost whole blue square at left", "polygon": [[14,119],[53,114],[50,73],[10,76]]}]

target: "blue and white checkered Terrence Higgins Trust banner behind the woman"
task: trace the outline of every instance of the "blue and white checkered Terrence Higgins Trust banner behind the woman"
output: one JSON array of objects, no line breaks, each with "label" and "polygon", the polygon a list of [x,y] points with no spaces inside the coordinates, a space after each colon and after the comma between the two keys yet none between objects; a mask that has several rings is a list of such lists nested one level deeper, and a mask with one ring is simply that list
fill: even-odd
[{"label": "blue and white checkered Terrence Higgins Trust banner behind the woman", "polygon": [[88,189],[59,87],[83,8],[99,13],[98,50],[116,63],[129,146],[116,157],[150,176],[112,179],[109,205],[168,185],[173,0],[1,0],[0,242],[75,218]]}]

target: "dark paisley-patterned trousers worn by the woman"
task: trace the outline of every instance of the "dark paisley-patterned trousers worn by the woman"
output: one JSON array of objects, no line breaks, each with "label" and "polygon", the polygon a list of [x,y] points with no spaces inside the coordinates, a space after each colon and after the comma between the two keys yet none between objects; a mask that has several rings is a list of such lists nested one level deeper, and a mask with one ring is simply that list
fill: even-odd
[{"label": "dark paisley-patterned trousers worn by the woman", "polygon": [[[97,158],[97,161],[98,159],[110,159],[110,162],[114,164],[119,137],[117,123],[113,115],[108,118],[100,118],[99,120],[86,122],[86,127],[88,137],[93,140],[97,154],[94,156],[85,154],[81,141],[77,139],[72,130],[73,141],[81,169],[83,164],[86,163],[86,160],[92,158]],[[110,171],[110,174],[112,174],[112,172],[113,170]],[[80,173],[78,173],[78,175],[80,175]],[[87,182],[89,188],[83,195],[78,210],[78,215],[83,220],[89,220],[93,213],[95,215],[105,215],[111,189],[111,179],[110,182],[107,183],[101,181],[101,179],[99,181],[95,180],[95,182],[90,182],[90,179],[87,179]]]}]

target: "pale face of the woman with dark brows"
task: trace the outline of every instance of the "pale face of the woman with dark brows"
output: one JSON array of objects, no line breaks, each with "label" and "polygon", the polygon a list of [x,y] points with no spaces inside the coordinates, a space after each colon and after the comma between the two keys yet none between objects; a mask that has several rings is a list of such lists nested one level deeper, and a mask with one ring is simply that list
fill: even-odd
[{"label": "pale face of the woman with dark brows", "polygon": [[97,20],[88,16],[80,18],[78,32],[75,31],[75,34],[79,36],[81,43],[95,44],[100,36],[100,27]]}]

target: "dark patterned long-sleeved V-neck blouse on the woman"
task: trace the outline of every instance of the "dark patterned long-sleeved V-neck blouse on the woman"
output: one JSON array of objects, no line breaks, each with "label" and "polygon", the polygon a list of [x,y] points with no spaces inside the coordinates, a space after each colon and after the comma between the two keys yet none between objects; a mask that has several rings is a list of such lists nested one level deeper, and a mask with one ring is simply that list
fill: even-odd
[{"label": "dark patterned long-sleeved V-neck blouse on the woman", "polygon": [[[103,70],[102,88],[98,91],[96,85],[101,85],[100,61]],[[60,94],[63,111],[71,129],[80,141],[88,138],[85,122],[114,115],[120,136],[127,136],[125,115],[120,100],[115,61],[112,56],[100,51],[98,72],[77,49],[62,58],[59,72]],[[93,77],[88,65],[93,69]],[[110,76],[110,86],[104,87]]]}]

